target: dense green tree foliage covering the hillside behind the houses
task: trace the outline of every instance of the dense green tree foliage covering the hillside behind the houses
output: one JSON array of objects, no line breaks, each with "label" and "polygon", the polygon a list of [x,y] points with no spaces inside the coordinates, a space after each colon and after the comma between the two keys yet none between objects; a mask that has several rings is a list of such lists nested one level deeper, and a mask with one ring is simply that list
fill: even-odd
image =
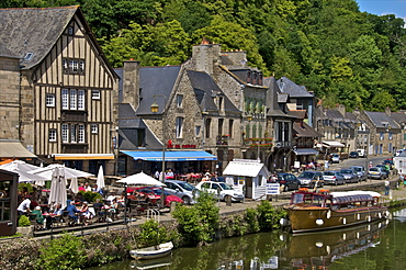
[{"label": "dense green tree foliage covering the hillside behind the houses", "polygon": [[406,29],[356,0],[9,0],[0,8],[80,4],[114,67],[178,65],[202,37],[247,52],[266,76],[304,85],[324,104],[406,109]]}]

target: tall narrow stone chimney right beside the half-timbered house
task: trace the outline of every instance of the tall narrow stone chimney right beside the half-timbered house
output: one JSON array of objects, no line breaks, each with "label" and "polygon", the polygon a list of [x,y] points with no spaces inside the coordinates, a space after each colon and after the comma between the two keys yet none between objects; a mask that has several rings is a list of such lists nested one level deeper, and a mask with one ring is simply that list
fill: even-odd
[{"label": "tall narrow stone chimney right beside the half-timbered house", "polygon": [[138,108],[139,101],[139,61],[129,59],[124,61],[123,69],[123,101],[134,109]]}]

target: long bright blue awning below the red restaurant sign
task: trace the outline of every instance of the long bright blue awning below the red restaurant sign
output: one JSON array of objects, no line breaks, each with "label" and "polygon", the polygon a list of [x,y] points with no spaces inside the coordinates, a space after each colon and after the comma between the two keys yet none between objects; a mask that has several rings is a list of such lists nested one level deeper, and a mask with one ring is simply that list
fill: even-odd
[{"label": "long bright blue awning below the red restaurant sign", "polygon": [[[162,151],[121,151],[135,160],[162,161]],[[188,160],[217,160],[216,156],[203,150],[167,150],[165,161],[188,161]]]}]

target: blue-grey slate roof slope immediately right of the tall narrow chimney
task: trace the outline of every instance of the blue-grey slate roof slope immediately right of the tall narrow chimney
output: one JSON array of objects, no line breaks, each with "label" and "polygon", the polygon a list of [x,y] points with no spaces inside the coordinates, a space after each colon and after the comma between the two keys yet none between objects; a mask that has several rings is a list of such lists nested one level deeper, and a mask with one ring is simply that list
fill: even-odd
[{"label": "blue-grey slate roof slope immediately right of the tall narrow chimney", "polygon": [[139,68],[140,102],[139,106],[136,108],[136,113],[153,114],[150,105],[155,101],[159,105],[159,111],[156,114],[161,114],[165,109],[165,98],[157,97],[154,100],[154,95],[165,95],[168,103],[180,70],[181,66]]}]

